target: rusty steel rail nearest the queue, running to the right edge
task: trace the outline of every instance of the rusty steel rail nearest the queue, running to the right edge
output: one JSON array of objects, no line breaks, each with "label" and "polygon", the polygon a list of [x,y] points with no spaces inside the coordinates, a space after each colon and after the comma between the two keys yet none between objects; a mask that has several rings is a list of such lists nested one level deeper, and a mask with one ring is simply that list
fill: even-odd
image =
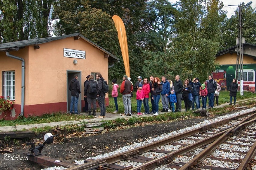
[{"label": "rusty steel rail nearest the queue, running to the right edge", "polygon": [[[106,158],[103,158],[103,159],[99,159],[99,160],[104,160],[108,164],[115,163],[115,162],[118,162],[118,161],[121,161],[121,160],[125,160],[128,157],[132,157],[132,156],[150,151],[150,150],[152,150],[152,148],[157,148],[158,146],[161,146],[161,145],[167,145],[170,142],[174,142],[174,141],[177,141],[179,139],[183,139],[184,137],[191,136],[193,134],[200,133],[200,132],[205,132],[205,131],[210,130],[212,128],[218,127],[222,124],[227,124],[229,121],[232,121],[234,119],[250,115],[253,112],[255,113],[256,110],[246,112],[246,113],[243,113],[241,115],[236,115],[234,117],[227,118],[227,119],[224,119],[224,120],[212,123],[212,124],[208,124],[208,125],[205,125],[205,126],[202,126],[202,127],[198,127],[196,129],[193,129],[193,130],[190,130],[190,131],[187,131],[187,132],[183,132],[183,133],[180,133],[180,134],[177,134],[177,135],[174,135],[174,136],[170,136],[166,139],[162,139],[162,140],[159,140],[159,141],[156,141],[156,142],[152,142],[150,144],[147,144],[147,145],[135,148],[135,149],[131,149],[129,151],[125,151],[125,152],[122,152],[122,153],[119,153],[119,154],[115,154],[115,155],[112,155],[112,156],[109,156],[109,157],[106,157]],[[94,166],[99,165],[99,163],[98,163],[99,160],[93,160],[93,161],[90,161],[88,163],[84,163],[82,165],[77,165],[77,166],[74,166],[74,167],[71,167],[71,168],[67,168],[66,170],[88,169],[89,166],[92,167],[93,165]]]}]

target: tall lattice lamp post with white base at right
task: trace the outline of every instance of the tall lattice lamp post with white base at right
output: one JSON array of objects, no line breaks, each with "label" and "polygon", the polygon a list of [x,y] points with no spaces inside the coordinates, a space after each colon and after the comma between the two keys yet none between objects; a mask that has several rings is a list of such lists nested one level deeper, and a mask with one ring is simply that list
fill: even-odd
[{"label": "tall lattice lamp post with white base at right", "polygon": [[244,95],[243,88],[243,29],[242,29],[242,7],[252,4],[252,1],[248,2],[245,5],[228,5],[228,6],[236,6],[239,9],[239,26],[238,26],[238,38],[237,38],[237,52],[236,52],[236,79],[238,80],[238,70],[239,70],[239,60],[240,60],[240,95]]}]

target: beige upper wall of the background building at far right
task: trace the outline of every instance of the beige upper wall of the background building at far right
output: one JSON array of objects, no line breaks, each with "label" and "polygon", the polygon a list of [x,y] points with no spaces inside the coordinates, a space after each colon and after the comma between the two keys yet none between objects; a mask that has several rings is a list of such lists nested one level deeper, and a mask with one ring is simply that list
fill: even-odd
[{"label": "beige upper wall of the background building at far right", "polygon": [[[216,57],[216,63],[220,65],[236,64],[236,53],[226,53],[224,55]],[[256,64],[256,61],[252,57],[243,55],[243,64]]]}]

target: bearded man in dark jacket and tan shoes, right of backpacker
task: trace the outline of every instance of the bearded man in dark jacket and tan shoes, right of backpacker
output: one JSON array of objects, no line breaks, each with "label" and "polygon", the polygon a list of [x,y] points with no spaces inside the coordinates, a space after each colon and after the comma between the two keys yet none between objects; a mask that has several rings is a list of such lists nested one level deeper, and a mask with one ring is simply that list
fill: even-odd
[{"label": "bearded man in dark jacket and tan shoes, right of backpacker", "polygon": [[105,118],[106,117],[106,107],[105,107],[105,93],[102,91],[103,88],[103,79],[101,73],[96,75],[96,79],[98,80],[98,89],[97,89],[97,97],[100,107],[100,116],[98,118]]}]

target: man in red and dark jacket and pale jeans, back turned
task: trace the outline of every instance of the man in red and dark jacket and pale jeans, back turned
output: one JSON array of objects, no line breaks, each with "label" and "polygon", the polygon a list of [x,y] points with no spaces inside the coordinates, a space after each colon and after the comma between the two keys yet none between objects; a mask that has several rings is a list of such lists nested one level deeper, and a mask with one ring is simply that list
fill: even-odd
[{"label": "man in red and dark jacket and pale jeans, back turned", "polygon": [[133,91],[132,83],[127,79],[127,75],[123,76],[123,82],[120,87],[120,93],[123,94],[124,114],[122,116],[131,116],[131,92]]}]

